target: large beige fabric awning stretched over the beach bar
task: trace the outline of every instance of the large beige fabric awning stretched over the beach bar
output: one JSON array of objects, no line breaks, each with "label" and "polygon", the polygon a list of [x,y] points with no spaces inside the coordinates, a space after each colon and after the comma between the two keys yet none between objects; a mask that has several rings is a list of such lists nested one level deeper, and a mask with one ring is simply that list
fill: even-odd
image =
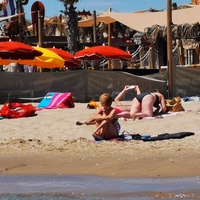
[{"label": "large beige fabric awning stretched over the beach bar", "polygon": [[[173,24],[194,24],[200,22],[200,5],[187,5],[188,8],[172,10]],[[167,26],[167,11],[161,12],[133,12],[121,13],[105,11],[96,16],[97,25],[99,22],[106,24],[120,22],[138,32],[144,32],[145,28],[153,25]],[[79,27],[93,26],[93,19],[78,22]]]}]

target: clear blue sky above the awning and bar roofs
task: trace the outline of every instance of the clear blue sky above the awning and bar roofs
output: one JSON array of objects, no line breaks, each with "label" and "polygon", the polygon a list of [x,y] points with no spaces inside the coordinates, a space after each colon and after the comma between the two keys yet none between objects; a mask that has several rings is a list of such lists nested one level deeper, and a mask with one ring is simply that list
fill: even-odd
[{"label": "clear blue sky above the awning and bar roofs", "polygon": [[[61,14],[59,11],[64,9],[63,4],[59,0],[40,0],[45,7],[45,17],[53,17]],[[176,2],[178,6],[183,4],[189,4],[192,0],[172,0],[172,3]],[[26,19],[31,19],[31,6],[35,0],[29,0],[29,3],[24,6],[26,13]],[[139,10],[146,10],[149,8],[166,10],[167,0],[79,0],[75,4],[78,11],[85,9],[90,10],[92,13],[94,10],[97,14],[111,8],[114,12],[134,12]]]}]

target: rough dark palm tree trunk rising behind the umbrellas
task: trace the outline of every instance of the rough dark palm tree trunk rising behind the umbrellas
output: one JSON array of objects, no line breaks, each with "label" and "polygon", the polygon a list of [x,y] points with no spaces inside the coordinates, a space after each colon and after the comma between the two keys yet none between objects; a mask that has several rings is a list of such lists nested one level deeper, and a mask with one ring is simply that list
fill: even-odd
[{"label": "rough dark palm tree trunk rising behind the umbrellas", "polygon": [[66,34],[68,51],[74,54],[78,51],[78,16],[74,4],[79,0],[59,0],[64,5],[64,11],[61,11],[66,20]]}]

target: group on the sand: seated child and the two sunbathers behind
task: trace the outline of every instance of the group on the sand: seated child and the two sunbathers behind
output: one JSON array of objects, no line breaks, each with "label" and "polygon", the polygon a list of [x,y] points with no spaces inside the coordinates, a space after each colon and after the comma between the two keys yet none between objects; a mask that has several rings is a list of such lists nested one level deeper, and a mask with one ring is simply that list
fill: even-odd
[{"label": "group on the sand: seated child and the two sunbathers behind", "polygon": [[[122,98],[129,89],[136,90],[136,96],[130,105],[123,105]],[[96,126],[93,132],[95,140],[110,140],[117,138],[119,135],[119,118],[128,118],[135,121],[145,117],[153,117],[158,113],[165,113],[166,101],[164,96],[158,90],[153,92],[141,92],[138,85],[126,85],[124,89],[114,99],[115,106],[112,107],[112,96],[104,93],[99,98],[101,107],[85,122],[76,122],[77,125]]]}]

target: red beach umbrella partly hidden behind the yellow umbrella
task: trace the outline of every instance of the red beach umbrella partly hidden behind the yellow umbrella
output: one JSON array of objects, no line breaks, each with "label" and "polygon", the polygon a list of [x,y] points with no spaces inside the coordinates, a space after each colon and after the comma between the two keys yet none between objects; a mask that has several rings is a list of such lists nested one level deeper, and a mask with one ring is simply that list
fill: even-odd
[{"label": "red beach umbrella partly hidden behind the yellow umbrella", "polygon": [[54,53],[58,54],[61,58],[65,60],[65,66],[68,68],[77,68],[81,65],[80,60],[74,59],[74,56],[62,49],[58,48],[47,48],[50,51],[53,51]]}]

